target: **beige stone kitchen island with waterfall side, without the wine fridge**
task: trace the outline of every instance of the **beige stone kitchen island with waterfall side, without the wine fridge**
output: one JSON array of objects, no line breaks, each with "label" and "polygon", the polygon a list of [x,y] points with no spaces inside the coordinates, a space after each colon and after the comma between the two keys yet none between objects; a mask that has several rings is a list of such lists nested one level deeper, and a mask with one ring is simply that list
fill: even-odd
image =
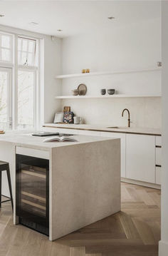
[{"label": "beige stone kitchen island with waterfall side, without the wine fridge", "polygon": [[[44,138],[32,136],[30,131],[0,135],[1,160],[10,165],[14,224],[19,224],[16,154],[49,160],[48,235],[51,241],[121,209],[120,139],[74,137],[78,142],[43,143]],[[6,195],[4,191],[3,195]]]}]

